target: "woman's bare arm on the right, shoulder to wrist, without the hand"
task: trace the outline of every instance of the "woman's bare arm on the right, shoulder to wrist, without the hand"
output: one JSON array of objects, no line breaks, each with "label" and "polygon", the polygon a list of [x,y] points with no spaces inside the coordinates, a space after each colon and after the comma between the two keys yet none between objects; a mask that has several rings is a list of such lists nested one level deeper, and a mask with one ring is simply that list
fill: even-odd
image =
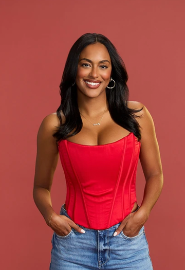
[{"label": "woman's bare arm on the right, shoulder to wrist, without the hand", "polygon": [[145,106],[142,113],[142,138],[139,158],[146,184],[140,211],[143,211],[143,214],[145,213],[147,219],[160,196],[163,186],[163,173],[154,121]]}]

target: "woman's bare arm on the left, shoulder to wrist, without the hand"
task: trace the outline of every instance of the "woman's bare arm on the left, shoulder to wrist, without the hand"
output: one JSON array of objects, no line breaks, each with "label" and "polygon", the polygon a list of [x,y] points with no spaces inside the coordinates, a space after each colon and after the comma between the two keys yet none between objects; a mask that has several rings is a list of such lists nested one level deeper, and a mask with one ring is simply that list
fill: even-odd
[{"label": "woman's bare arm on the left, shoulder to wrist, without the hand", "polygon": [[54,212],[51,203],[50,190],[54,171],[58,164],[59,152],[52,134],[59,125],[57,115],[46,116],[39,128],[37,136],[37,153],[35,163],[33,199],[43,215],[47,225]]}]

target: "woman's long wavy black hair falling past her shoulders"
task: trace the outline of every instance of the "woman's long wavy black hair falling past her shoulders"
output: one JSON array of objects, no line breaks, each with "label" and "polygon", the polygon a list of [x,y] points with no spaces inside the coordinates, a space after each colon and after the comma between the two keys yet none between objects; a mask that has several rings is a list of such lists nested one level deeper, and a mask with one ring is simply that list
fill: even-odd
[{"label": "woman's long wavy black hair falling past her shoulders", "polygon": [[[89,44],[95,44],[97,42],[102,43],[109,52],[112,62],[111,76],[116,82],[116,86],[113,89],[106,88],[106,98],[110,116],[121,127],[133,132],[138,139],[141,139],[140,125],[135,119],[135,117],[140,116],[135,115],[135,113],[140,112],[143,108],[134,110],[127,107],[129,91],[126,82],[128,75],[122,58],[113,43],[103,34],[86,33],[81,35],[72,45],[65,63],[60,83],[61,104],[57,109],[60,127],[57,127],[58,131],[53,134],[53,137],[56,137],[57,143],[62,139],[76,135],[82,129],[83,123],[78,109],[77,88],[76,84],[72,84],[76,81],[81,51]],[[61,112],[65,116],[65,123],[62,123]],[[75,131],[71,133],[74,129]]]}]

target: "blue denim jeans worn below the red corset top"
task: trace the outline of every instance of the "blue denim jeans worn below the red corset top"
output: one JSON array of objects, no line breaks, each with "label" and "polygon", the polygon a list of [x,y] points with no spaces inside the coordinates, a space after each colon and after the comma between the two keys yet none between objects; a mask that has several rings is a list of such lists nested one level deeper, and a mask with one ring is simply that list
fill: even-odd
[{"label": "blue denim jeans worn below the red corset top", "polygon": [[[64,204],[61,215],[67,214]],[[53,232],[50,270],[153,270],[144,226],[135,237],[127,237],[123,231],[113,233],[118,224],[104,230],[89,229],[80,233],[71,228],[66,236]]]}]

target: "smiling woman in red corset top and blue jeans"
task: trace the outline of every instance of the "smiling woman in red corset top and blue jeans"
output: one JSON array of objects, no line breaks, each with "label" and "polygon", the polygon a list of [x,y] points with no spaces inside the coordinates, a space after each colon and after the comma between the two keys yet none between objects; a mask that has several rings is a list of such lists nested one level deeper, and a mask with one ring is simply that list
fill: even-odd
[{"label": "smiling woman in red corset top and blue jeans", "polygon": [[[144,223],[161,193],[153,119],[128,101],[128,76],[115,46],[86,33],[73,44],[60,84],[61,105],[38,132],[33,197],[53,232],[50,270],[153,269]],[[67,194],[51,204],[60,156]],[[146,184],[136,200],[138,158]]]}]

